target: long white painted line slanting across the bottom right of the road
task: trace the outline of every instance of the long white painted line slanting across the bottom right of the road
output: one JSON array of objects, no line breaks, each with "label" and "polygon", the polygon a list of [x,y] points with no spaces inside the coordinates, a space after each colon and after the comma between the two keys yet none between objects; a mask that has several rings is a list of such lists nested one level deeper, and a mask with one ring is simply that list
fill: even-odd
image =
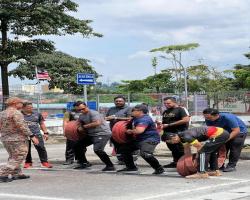
[{"label": "long white painted line slanting across the bottom right of the road", "polygon": [[250,182],[250,180],[241,180],[241,181],[236,181],[233,183],[221,183],[221,184],[216,184],[216,185],[212,185],[212,186],[210,185],[210,186],[205,186],[205,187],[193,188],[190,190],[182,190],[182,191],[178,190],[177,192],[164,193],[164,194],[149,196],[149,197],[145,197],[145,198],[138,198],[135,200],[157,199],[157,198],[169,197],[169,196],[173,196],[173,195],[179,195],[179,194],[183,194],[183,193],[193,193],[193,192],[197,192],[197,191],[201,191],[201,190],[208,190],[211,188],[219,188],[219,187],[225,187],[225,186],[231,186],[231,185],[238,185],[238,184],[247,183],[247,182]]}]

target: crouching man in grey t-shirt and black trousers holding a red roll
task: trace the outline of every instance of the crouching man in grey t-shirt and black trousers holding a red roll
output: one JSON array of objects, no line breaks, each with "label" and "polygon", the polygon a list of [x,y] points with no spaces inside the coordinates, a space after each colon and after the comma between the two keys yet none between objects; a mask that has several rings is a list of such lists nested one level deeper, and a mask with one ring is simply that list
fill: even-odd
[{"label": "crouching man in grey t-shirt and black trousers holding a red roll", "polygon": [[[106,164],[106,167],[102,171],[114,171],[114,165],[109,159],[109,156],[104,151],[104,148],[111,137],[111,131],[109,125],[104,120],[102,115],[95,110],[90,110],[83,102],[78,106],[82,114],[79,116],[79,122],[82,127],[86,129],[87,134],[76,145],[76,153],[79,152],[79,148],[94,145],[94,152]],[[79,160],[80,161],[80,160]],[[87,166],[80,164],[78,169],[84,169]]]}]

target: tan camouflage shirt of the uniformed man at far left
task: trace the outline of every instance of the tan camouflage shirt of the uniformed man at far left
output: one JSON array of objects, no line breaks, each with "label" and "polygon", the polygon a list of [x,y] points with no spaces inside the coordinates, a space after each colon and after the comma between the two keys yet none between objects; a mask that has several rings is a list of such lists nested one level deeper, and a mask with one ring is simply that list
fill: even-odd
[{"label": "tan camouflage shirt of the uniformed man at far left", "polygon": [[13,107],[0,112],[0,135],[2,141],[25,141],[32,135],[22,113]]}]

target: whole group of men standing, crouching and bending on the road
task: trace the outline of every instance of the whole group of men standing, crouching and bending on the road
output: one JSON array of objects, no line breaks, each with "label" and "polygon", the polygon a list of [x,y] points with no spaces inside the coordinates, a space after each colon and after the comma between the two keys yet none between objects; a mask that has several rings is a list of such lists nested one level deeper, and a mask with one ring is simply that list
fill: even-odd
[{"label": "whole group of men standing, crouching and bending on the road", "polygon": [[[238,117],[208,108],[203,111],[207,126],[189,129],[190,116],[177,104],[176,99],[168,97],[164,98],[163,102],[166,110],[162,113],[162,120],[156,122],[148,115],[147,105],[140,104],[130,108],[123,96],[114,98],[115,106],[108,110],[105,118],[99,112],[89,109],[84,102],[75,102],[74,109],[65,113],[63,126],[65,128],[69,121],[77,120],[86,134],[78,141],[67,139],[64,164],[73,164],[74,160],[77,160],[75,169],[91,167],[92,164],[88,162],[85,154],[87,146],[93,144],[95,154],[105,164],[102,171],[115,171],[114,164],[104,150],[111,140],[118,159],[125,164],[125,168],[118,170],[119,172],[138,170],[133,152],[139,150],[141,157],[154,169],[153,174],[161,174],[164,173],[164,168],[175,168],[178,160],[185,153],[190,153],[188,149],[192,145],[198,152],[198,173],[187,178],[206,178],[209,175],[221,175],[217,153],[219,148],[226,144],[229,162],[221,169],[224,172],[235,171],[247,135],[247,128]],[[43,139],[48,139],[48,131],[42,116],[32,111],[31,103],[25,103],[19,98],[10,98],[6,104],[7,109],[1,112],[0,131],[1,141],[9,153],[9,159],[7,165],[0,169],[0,182],[29,177],[22,173],[21,164],[26,159],[25,166],[32,166],[31,155],[28,154],[31,141],[39,153],[42,165],[52,167],[48,163],[44,147]],[[21,109],[22,112],[19,111]],[[126,131],[129,139],[122,144],[112,138],[112,128],[121,120],[130,121]],[[163,130],[161,137],[156,124]],[[173,162],[163,166],[153,154],[160,140],[166,142],[173,156]]]}]

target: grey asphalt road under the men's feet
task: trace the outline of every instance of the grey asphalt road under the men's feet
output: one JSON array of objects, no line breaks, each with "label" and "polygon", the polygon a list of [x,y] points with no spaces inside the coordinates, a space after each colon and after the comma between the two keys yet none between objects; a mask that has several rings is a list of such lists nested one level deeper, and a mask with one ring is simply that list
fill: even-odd
[{"label": "grey asphalt road under the men's feet", "polygon": [[[239,200],[250,199],[250,160],[240,160],[237,171],[223,173],[221,177],[188,180],[176,171],[164,175],[151,175],[153,170],[141,159],[137,161],[141,174],[104,173],[104,167],[93,154],[91,147],[87,157],[93,167],[90,170],[73,170],[63,166],[64,145],[47,145],[53,169],[40,167],[33,148],[34,167],[25,170],[30,179],[0,183],[0,199],[5,200]],[[110,153],[111,149],[107,147]],[[7,154],[0,149],[0,162],[6,162]],[[116,159],[112,158],[115,162]],[[159,157],[162,164],[171,161]],[[116,165],[117,169],[123,166]]]}]

